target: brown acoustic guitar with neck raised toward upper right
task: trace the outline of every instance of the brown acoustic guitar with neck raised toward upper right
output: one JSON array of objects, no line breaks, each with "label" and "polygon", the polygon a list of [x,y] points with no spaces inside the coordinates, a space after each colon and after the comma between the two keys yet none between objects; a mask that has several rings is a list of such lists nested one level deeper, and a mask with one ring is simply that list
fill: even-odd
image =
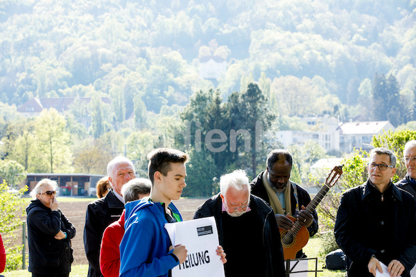
[{"label": "brown acoustic guitar with neck raised toward upper right", "polygon": [[[313,197],[311,203],[306,206],[305,211],[308,213],[313,213],[315,208],[320,204],[322,198],[327,195],[329,188],[332,188],[336,181],[343,174],[343,165],[336,166],[329,173],[324,186],[319,190],[318,194]],[[297,251],[300,251],[309,240],[309,231],[305,226],[302,226],[302,223],[295,217],[288,216],[290,220],[294,222],[293,228],[291,230],[280,229],[281,236],[281,246],[283,247],[283,254],[285,260],[293,260],[296,258]]]}]

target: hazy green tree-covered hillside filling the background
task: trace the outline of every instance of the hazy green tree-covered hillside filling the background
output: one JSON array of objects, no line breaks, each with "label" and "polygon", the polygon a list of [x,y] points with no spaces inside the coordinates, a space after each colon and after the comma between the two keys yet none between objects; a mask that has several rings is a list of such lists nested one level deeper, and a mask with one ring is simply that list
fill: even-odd
[{"label": "hazy green tree-covered hillside filling the background", "polygon": [[[126,154],[143,176],[148,151],[175,146],[194,154],[189,171],[205,170],[195,181],[207,186],[233,168],[254,175],[278,145],[270,133],[261,151],[243,151],[243,136],[221,154],[196,142],[212,129],[254,135],[259,122],[302,129],[294,118],[306,115],[416,120],[415,26],[415,0],[1,1],[1,159],[26,172],[104,173]],[[209,59],[225,63],[220,77],[200,75]],[[17,112],[69,97],[78,100],[64,114]]]}]

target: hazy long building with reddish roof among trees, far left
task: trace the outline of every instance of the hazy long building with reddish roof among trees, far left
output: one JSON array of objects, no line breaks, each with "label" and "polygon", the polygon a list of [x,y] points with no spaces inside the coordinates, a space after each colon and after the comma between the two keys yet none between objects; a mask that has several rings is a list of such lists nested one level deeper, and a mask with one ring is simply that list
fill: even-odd
[{"label": "hazy long building with reddish roof among trees, far left", "polygon": [[[111,100],[108,97],[102,97],[101,100],[105,104],[111,104]],[[32,98],[31,100],[28,100],[28,102],[21,105],[19,108],[17,108],[17,111],[19,113],[23,114],[27,117],[32,116],[39,116],[40,112],[43,109],[56,109],[60,114],[63,114],[65,111],[69,110],[71,108],[71,105],[76,102],[76,105],[80,105],[83,107],[83,118],[79,118],[80,122],[83,123],[86,127],[89,127],[91,125],[91,117],[89,115],[89,102],[91,101],[91,98],[89,97],[81,97],[81,98],[75,98],[75,97],[64,97],[64,98]]]}]

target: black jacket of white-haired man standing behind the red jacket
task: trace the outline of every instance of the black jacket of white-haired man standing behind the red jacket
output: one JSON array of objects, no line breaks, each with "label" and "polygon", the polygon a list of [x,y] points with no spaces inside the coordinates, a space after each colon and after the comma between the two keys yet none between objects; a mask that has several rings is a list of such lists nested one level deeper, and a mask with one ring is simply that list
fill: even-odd
[{"label": "black jacket of white-haired man standing behind the red jacket", "polygon": [[100,269],[100,247],[103,233],[108,225],[119,220],[124,204],[113,190],[105,197],[88,204],[85,215],[84,248],[89,262],[88,277],[103,276]]}]

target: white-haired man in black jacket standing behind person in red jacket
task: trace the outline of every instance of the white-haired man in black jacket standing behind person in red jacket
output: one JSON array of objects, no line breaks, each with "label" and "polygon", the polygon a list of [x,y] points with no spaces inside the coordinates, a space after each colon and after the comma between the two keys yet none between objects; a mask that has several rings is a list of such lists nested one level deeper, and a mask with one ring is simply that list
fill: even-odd
[{"label": "white-haired man in black jacket standing behind person in red jacket", "polygon": [[119,220],[124,209],[121,188],[135,179],[135,166],[125,157],[116,157],[107,165],[112,186],[105,197],[88,204],[85,215],[84,247],[89,262],[88,277],[103,276],[100,269],[100,246],[105,228]]}]

